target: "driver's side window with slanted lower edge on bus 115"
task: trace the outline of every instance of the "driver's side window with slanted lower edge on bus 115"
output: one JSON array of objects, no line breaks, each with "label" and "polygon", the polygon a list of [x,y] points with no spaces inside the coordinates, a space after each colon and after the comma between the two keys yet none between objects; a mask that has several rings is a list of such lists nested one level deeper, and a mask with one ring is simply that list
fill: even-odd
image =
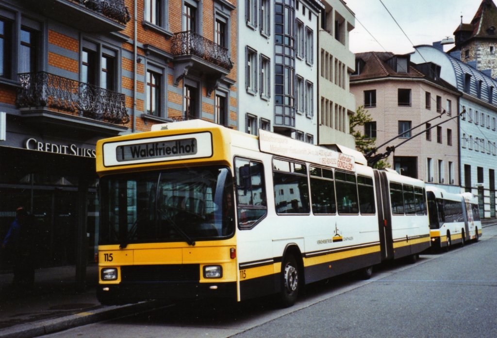
[{"label": "driver's side window with slanted lower edge on bus 115", "polygon": [[253,228],[267,214],[262,163],[235,159],[238,227]]}]

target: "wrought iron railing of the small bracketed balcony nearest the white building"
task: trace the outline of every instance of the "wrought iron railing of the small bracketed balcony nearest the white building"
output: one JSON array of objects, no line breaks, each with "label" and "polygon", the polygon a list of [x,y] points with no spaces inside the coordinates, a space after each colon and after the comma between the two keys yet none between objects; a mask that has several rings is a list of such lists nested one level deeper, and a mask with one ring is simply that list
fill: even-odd
[{"label": "wrought iron railing of the small bracketed balcony nearest the white building", "polygon": [[195,55],[228,71],[233,68],[227,48],[190,31],[173,35],[171,52],[176,56]]}]

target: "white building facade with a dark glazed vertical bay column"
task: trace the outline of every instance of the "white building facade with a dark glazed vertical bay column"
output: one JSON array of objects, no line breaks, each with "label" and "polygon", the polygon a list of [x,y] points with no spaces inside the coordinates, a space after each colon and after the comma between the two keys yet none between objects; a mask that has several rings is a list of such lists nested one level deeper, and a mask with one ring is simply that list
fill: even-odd
[{"label": "white building facade with a dark glazed vertical bay column", "polygon": [[239,130],[316,143],[321,9],[315,0],[248,0],[239,8]]}]

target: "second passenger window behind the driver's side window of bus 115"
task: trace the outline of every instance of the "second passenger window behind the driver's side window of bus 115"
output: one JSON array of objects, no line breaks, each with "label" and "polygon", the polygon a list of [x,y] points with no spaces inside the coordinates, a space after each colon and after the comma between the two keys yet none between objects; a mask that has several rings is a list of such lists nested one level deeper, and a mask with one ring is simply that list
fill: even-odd
[{"label": "second passenger window behind the driver's side window of bus 115", "polygon": [[336,213],[333,171],[311,167],[309,172],[311,176],[312,212],[316,215]]}]

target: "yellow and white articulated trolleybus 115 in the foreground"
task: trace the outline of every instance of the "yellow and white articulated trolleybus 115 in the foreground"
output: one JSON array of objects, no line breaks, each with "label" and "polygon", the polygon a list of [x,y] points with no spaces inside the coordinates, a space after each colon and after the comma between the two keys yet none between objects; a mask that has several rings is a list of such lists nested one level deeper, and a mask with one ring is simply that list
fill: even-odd
[{"label": "yellow and white articulated trolleybus 115 in the foreground", "polygon": [[[104,304],[280,295],[430,246],[424,183],[201,120],[97,143]],[[351,155],[353,154],[353,156]]]}]

